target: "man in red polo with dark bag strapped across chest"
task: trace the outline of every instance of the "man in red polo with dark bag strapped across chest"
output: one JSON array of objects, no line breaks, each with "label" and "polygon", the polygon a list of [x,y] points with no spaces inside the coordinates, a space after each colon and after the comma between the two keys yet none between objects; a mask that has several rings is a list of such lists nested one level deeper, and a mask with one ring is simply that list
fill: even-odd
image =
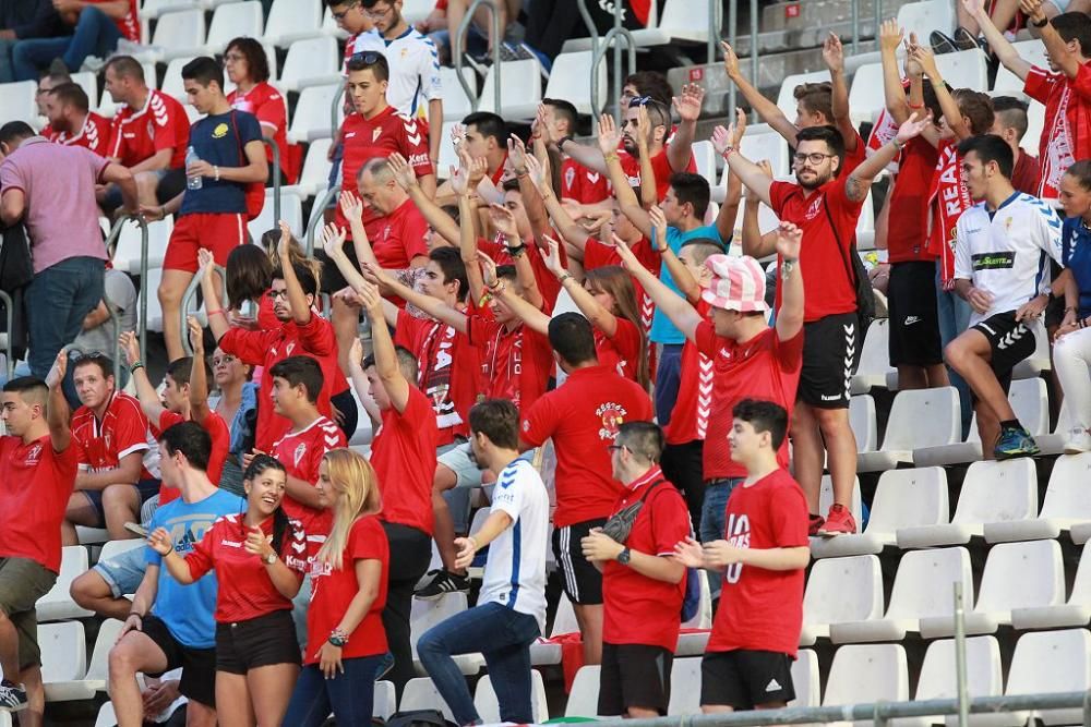
[{"label": "man in red polo with dark bag strapped across chest", "polygon": [[690,536],[690,516],[659,469],[663,433],[626,422],[608,447],[613,476],[625,486],[614,514],[643,502],[626,537],[609,526],[583,538],[584,557],[602,571],[602,670],[598,714],[650,718],[667,714],[671,664],[685,596],[685,568],[672,558]]}]

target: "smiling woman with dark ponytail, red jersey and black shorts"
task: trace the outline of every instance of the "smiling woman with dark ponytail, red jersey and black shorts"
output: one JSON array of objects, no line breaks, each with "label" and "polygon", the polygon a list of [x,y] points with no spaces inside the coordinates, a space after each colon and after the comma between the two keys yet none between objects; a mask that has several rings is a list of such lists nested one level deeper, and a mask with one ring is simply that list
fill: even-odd
[{"label": "smiling woman with dark ponytail, red jersey and black shorts", "polygon": [[216,716],[223,727],[278,727],[299,675],[291,599],[307,537],[280,507],[284,465],[257,455],[243,473],[247,509],[220,518],[184,558],[158,528],[148,544],[180,583],[216,569]]}]

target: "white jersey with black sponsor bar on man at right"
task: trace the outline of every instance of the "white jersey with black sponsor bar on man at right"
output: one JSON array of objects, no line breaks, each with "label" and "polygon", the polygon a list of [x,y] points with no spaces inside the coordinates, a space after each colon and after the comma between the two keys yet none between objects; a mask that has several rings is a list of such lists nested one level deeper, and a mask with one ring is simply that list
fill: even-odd
[{"label": "white jersey with black sponsor bar on man at right", "polygon": [[1048,290],[1048,257],[1060,263],[1060,218],[1038,197],[1016,192],[995,213],[979,203],[958,218],[955,277],[993,295],[970,325],[1008,313]]}]

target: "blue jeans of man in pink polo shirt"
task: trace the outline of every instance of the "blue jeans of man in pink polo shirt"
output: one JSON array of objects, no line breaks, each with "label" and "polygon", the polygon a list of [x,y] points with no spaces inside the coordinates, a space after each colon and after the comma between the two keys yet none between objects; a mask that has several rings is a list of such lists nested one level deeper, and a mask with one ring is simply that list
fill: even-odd
[{"label": "blue jeans of man in pink polo shirt", "polygon": [[83,319],[105,295],[106,264],[97,257],[70,257],[34,276],[26,287],[31,373],[45,378],[57,352],[75,340]]}]

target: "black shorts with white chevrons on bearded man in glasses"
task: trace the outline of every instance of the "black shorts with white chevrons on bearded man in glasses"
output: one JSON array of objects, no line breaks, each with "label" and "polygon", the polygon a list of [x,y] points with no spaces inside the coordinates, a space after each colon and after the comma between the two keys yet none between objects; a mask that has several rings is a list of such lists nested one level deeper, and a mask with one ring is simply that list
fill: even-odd
[{"label": "black shorts with white chevrons on bearded man in glasses", "polygon": [[803,324],[803,371],[796,398],[818,409],[848,409],[849,386],[860,364],[860,320],[838,313]]}]

